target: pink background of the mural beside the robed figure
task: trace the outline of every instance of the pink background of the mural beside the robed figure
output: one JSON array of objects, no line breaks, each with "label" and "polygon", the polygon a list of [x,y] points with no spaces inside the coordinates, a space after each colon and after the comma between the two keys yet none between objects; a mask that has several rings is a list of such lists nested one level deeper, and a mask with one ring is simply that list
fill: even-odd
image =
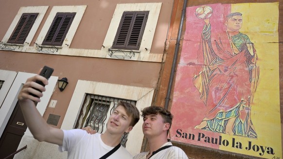
[{"label": "pink background of the mural beside the robed figure", "polygon": [[[230,13],[230,4],[210,4],[213,9],[213,15],[210,23],[213,32],[223,32],[226,30],[224,25],[225,17]],[[172,113],[175,115],[171,128],[171,139],[191,143],[200,146],[206,146],[218,149],[219,144],[207,143],[201,139],[198,141],[198,134],[202,133],[209,138],[219,140],[220,133],[195,129],[204,118],[206,107],[200,100],[199,91],[193,84],[193,77],[197,67],[197,51],[201,39],[201,33],[204,26],[202,19],[196,18],[195,9],[199,6],[188,7],[186,11],[186,32],[182,46],[180,62],[177,66],[176,83],[174,88],[174,97],[172,103]],[[176,115],[177,114],[177,115]],[[181,137],[177,133],[181,132]],[[185,134],[194,134],[195,139],[185,139]],[[224,139],[222,139],[224,140]]]}]

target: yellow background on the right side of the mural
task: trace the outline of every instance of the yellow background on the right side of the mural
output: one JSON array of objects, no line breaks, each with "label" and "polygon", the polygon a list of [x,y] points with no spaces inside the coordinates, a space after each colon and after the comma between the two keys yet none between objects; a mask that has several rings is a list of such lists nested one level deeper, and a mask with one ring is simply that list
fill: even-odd
[{"label": "yellow background on the right side of the mural", "polygon": [[[231,4],[231,13],[243,14],[243,27],[240,30],[248,35],[254,43],[260,67],[260,81],[251,105],[251,121],[254,124],[257,139],[222,134],[223,138],[235,138],[243,144],[242,153],[260,156],[258,152],[246,150],[248,141],[258,146],[272,147],[274,157],[282,159],[282,139],[280,122],[279,96],[279,44],[278,19],[279,3],[240,3]],[[219,149],[235,152],[231,146],[220,146]],[[238,151],[239,152],[239,151]],[[271,155],[272,156],[272,155]],[[263,158],[270,157],[266,152]],[[270,158],[272,159],[272,158]]]}]

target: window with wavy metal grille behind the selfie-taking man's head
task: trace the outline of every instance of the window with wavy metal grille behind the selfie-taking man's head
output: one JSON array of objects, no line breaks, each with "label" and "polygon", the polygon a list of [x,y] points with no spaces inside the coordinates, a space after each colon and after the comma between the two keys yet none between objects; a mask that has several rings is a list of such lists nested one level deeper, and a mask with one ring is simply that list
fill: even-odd
[{"label": "window with wavy metal grille behind the selfie-taking man's head", "polygon": [[[106,131],[106,124],[109,116],[119,101],[124,101],[136,105],[136,101],[106,97],[101,95],[87,94],[79,112],[75,128],[92,127],[98,133]],[[121,145],[125,147],[128,133],[121,138]]]}]

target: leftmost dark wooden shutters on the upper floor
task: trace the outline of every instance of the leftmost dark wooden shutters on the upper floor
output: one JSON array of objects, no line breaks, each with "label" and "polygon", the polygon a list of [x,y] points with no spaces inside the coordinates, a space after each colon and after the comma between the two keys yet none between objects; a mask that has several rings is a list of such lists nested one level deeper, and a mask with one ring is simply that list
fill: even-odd
[{"label": "leftmost dark wooden shutters on the upper floor", "polygon": [[38,13],[23,13],[7,43],[23,44],[35,23]]}]

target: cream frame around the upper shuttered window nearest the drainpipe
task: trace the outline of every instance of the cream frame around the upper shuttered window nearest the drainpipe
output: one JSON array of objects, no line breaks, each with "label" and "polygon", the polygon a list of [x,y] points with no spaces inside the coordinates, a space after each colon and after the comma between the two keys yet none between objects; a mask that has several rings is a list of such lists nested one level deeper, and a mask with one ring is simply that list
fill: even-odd
[{"label": "cream frame around the upper shuttered window nearest the drainpipe", "polygon": [[[120,20],[124,11],[149,11],[148,19],[141,39],[140,49],[137,52],[135,51],[135,56],[133,56],[131,59],[125,58],[124,60],[162,62],[163,53],[151,52],[153,37],[155,36],[157,24],[159,21],[161,5],[162,2],[117,4],[110,25],[108,27],[105,39],[103,41],[103,47],[100,51],[101,54],[103,53],[103,56],[99,53],[96,53],[95,57],[106,57],[110,59],[116,58],[110,56],[109,49],[111,49],[116,35],[116,33],[113,34],[113,31],[118,30],[118,26],[120,24]],[[123,54],[124,49],[120,50],[120,52]],[[84,54],[88,56],[88,53]]]}]

